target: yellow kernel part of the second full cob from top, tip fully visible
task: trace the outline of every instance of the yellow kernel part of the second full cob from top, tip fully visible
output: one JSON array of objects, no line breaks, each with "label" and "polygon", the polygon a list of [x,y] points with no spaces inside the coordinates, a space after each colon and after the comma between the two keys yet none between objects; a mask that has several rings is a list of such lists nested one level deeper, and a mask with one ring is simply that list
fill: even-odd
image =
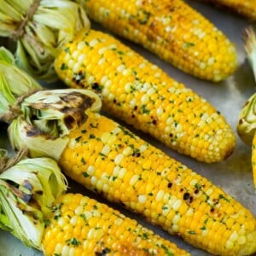
[{"label": "yellow kernel part of the second full cob from top, tip fully visible", "polygon": [[[88,46],[95,41],[94,47]],[[74,72],[68,60],[78,61],[73,58],[73,50],[78,50],[81,42],[84,48],[80,55],[86,58]],[[102,55],[98,54],[101,49],[104,49]],[[96,63],[102,56],[105,62],[98,66]],[[126,69],[131,70],[131,74],[124,76]],[[179,153],[215,162],[224,160],[233,151],[235,136],[223,115],[201,96],[108,34],[93,30],[80,32],[57,56],[55,70],[67,85],[100,93],[104,111],[148,132]],[[155,73],[159,76],[155,77]],[[105,94],[102,92],[107,83]],[[103,137],[115,139],[114,134]],[[119,155],[116,160],[121,158]]]}]

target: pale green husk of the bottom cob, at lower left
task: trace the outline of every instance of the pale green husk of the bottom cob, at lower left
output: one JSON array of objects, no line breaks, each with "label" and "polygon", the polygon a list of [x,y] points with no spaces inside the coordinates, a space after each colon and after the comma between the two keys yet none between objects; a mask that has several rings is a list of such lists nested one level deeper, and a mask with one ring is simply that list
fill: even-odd
[{"label": "pale green husk of the bottom cob, at lower left", "polygon": [[[0,151],[3,159],[6,151]],[[0,228],[41,249],[44,218],[66,190],[67,180],[55,160],[20,160],[0,174]]]}]

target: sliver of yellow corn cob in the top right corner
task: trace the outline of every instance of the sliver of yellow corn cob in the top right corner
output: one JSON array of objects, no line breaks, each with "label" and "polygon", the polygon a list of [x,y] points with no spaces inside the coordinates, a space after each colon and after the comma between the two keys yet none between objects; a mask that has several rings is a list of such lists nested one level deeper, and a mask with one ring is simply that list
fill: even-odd
[{"label": "sliver of yellow corn cob in the top right corner", "polygon": [[201,0],[206,3],[212,3],[218,7],[229,9],[249,20],[256,20],[256,1],[255,0]]}]

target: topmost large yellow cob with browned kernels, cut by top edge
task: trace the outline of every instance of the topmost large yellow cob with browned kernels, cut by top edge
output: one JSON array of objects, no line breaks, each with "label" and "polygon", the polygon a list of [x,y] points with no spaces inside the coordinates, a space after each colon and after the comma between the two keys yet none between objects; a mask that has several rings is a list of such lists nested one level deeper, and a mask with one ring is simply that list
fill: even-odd
[{"label": "topmost large yellow cob with browned kernels, cut by top edge", "polygon": [[236,49],[203,15],[182,0],[76,0],[90,19],[201,79],[234,73]]}]

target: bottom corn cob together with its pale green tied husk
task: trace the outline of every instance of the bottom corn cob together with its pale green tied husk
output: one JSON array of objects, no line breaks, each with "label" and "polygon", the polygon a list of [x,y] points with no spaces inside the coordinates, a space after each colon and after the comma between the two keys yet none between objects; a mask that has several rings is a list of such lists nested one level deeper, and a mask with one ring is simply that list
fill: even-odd
[{"label": "bottom corn cob together with its pale green tied husk", "polygon": [[63,195],[66,190],[54,160],[9,166],[0,174],[0,227],[46,256],[190,255],[113,208],[88,196]]}]

